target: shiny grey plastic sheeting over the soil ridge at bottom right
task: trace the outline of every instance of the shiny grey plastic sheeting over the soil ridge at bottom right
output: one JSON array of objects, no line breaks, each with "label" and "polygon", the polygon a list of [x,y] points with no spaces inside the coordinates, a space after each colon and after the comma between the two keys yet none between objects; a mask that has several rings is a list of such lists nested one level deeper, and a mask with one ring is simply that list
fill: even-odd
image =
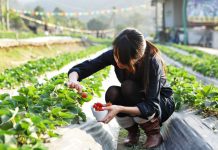
[{"label": "shiny grey plastic sheeting over the soil ridge at bottom right", "polygon": [[218,134],[205,125],[205,119],[194,115],[190,111],[174,113],[174,115],[164,123],[162,133],[165,141],[160,146],[160,149],[218,149]]}]

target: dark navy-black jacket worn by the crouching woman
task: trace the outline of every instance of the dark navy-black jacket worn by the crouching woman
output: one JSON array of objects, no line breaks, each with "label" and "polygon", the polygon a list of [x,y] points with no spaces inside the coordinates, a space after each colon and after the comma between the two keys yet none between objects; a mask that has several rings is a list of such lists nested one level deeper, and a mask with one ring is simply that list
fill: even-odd
[{"label": "dark navy-black jacket worn by the crouching woman", "polygon": [[[136,65],[135,74],[127,73],[124,69],[118,68],[113,57],[113,50],[109,50],[95,59],[86,60],[74,67],[72,67],[68,75],[76,71],[79,75],[79,81],[90,76],[91,74],[103,69],[106,66],[113,65],[115,67],[115,73],[118,80],[122,83],[125,80],[135,81],[143,90],[143,69],[140,67],[142,64],[138,63]],[[167,92],[166,87],[166,77],[164,75],[164,70],[161,61],[153,56],[150,60],[150,75],[149,75],[149,87],[147,94],[142,98],[141,102],[137,104],[141,112],[141,117],[147,118],[152,114],[160,113],[160,100],[161,96],[170,97],[171,92]],[[165,92],[166,91],[166,92]]]}]

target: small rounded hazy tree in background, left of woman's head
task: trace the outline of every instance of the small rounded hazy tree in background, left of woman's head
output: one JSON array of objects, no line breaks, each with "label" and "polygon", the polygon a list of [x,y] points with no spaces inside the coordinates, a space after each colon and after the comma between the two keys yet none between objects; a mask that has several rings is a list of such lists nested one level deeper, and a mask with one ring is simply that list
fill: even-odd
[{"label": "small rounded hazy tree in background, left of woman's head", "polygon": [[87,23],[87,27],[89,30],[104,30],[107,28],[107,24],[94,18],[89,20],[89,22]]}]

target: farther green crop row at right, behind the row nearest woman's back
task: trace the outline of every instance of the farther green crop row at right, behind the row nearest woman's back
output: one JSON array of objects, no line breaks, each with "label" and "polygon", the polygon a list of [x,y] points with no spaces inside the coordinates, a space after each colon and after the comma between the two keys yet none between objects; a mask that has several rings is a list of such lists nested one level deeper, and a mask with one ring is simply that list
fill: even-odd
[{"label": "farther green crop row at right, behind the row nearest woman's back", "polygon": [[170,58],[191,67],[194,71],[204,76],[218,78],[218,56],[206,54],[187,46],[173,46],[188,52],[189,55],[178,53],[172,48],[163,45],[158,45],[158,48]]}]

